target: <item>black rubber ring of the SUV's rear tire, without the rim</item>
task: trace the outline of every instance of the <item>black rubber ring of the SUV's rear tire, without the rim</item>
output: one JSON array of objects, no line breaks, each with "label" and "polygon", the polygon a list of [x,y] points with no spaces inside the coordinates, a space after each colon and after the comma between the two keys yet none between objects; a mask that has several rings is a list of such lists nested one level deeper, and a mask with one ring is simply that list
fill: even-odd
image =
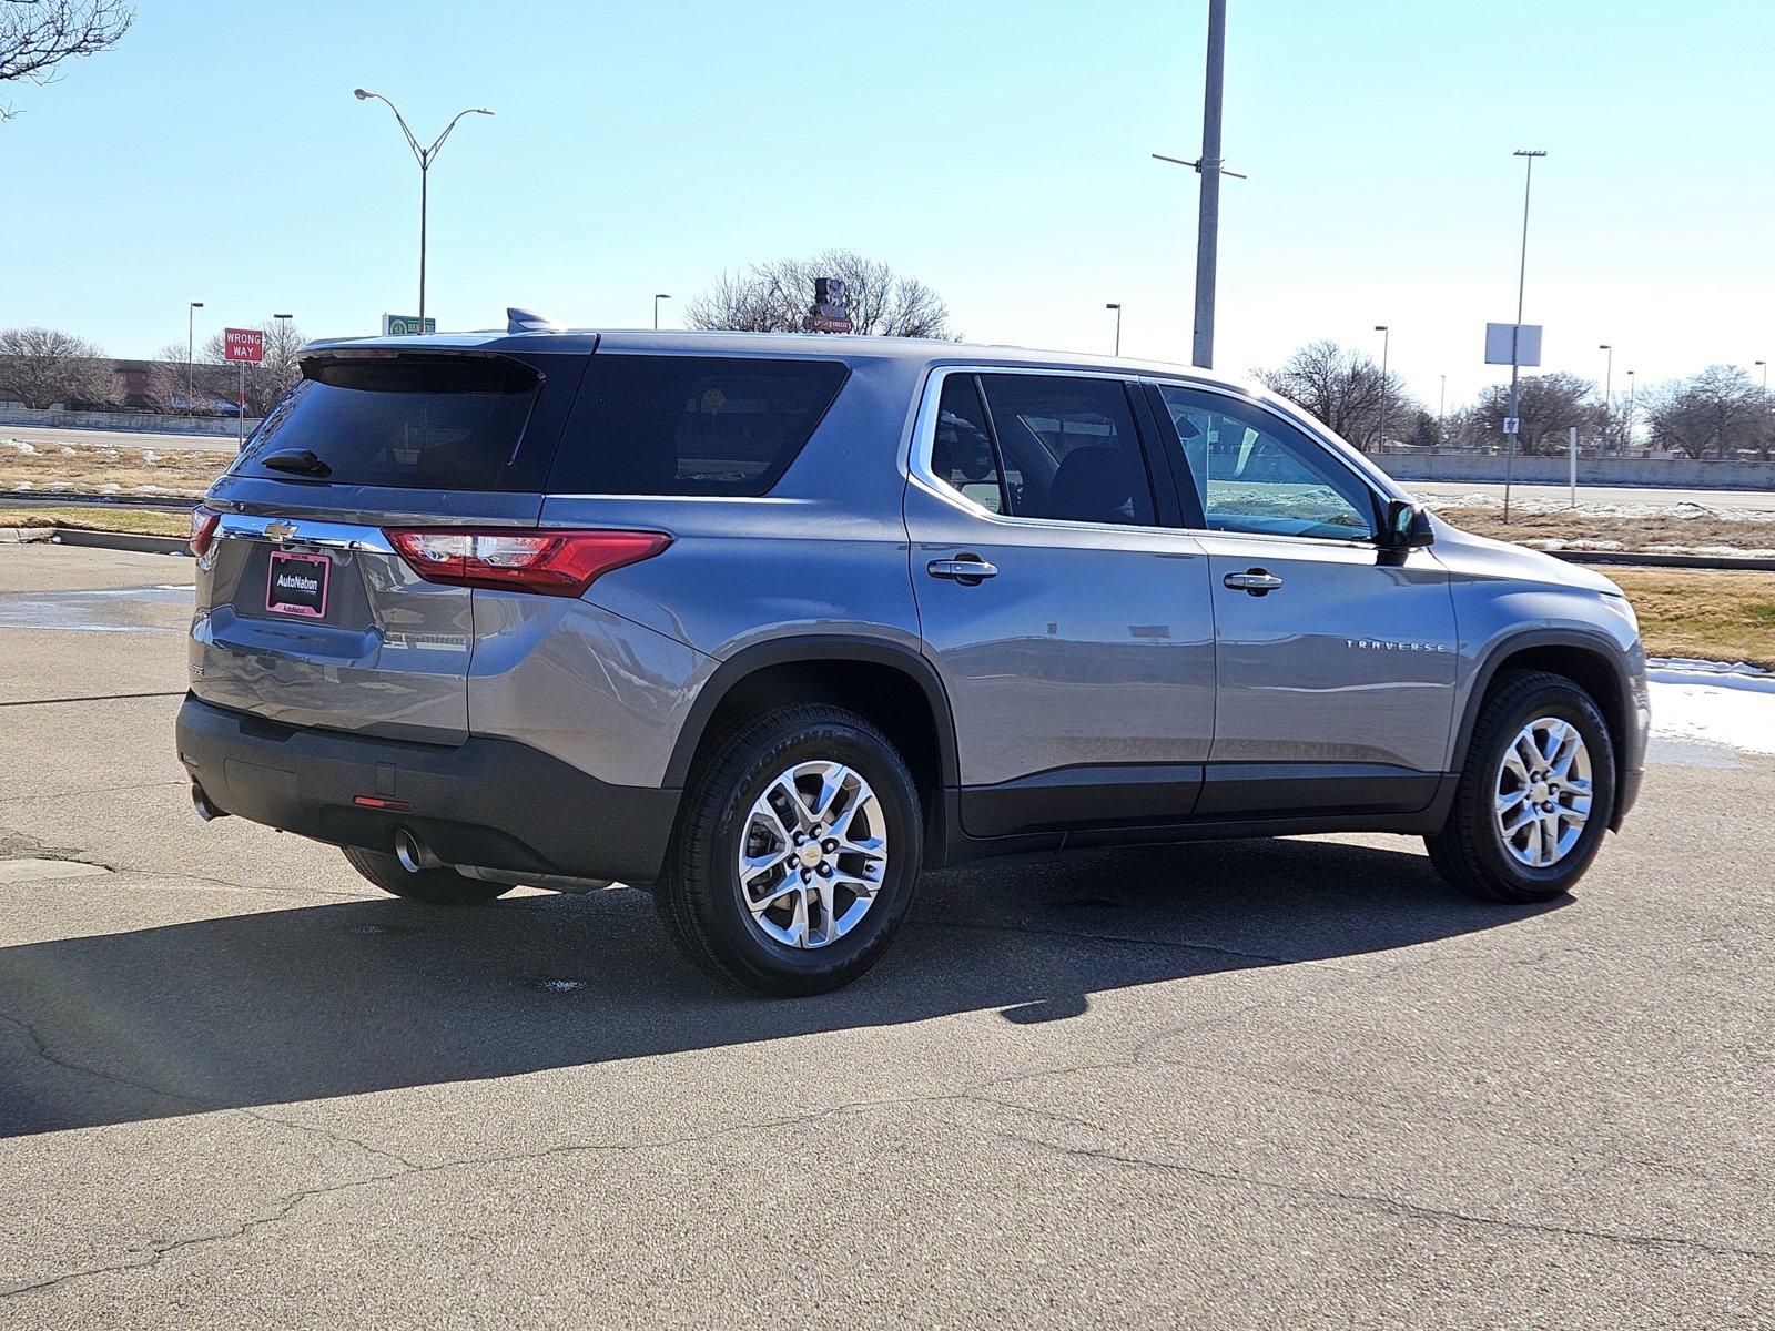
[{"label": "black rubber ring of the SUV's rear tire, without the rim", "polygon": [[[698,848],[701,871],[692,875],[692,891],[703,898],[696,914],[715,935],[710,942],[763,987],[779,992],[816,992],[856,978],[875,964],[912,905],[923,859],[923,818],[905,763],[870,731],[838,721],[767,735],[737,758],[738,777],[712,792],[721,811],[706,845]],[[888,823],[888,873],[875,903],[848,933],[825,948],[788,948],[753,925],[735,861],[753,804],[776,777],[808,761],[840,761],[868,781]]]}]

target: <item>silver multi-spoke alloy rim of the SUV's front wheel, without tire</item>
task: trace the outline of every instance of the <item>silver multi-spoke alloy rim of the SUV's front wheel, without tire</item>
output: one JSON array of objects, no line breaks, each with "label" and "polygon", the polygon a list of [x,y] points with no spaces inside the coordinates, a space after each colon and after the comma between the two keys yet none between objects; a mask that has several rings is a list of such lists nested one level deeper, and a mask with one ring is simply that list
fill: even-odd
[{"label": "silver multi-spoke alloy rim of the SUV's front wheel, without tire", "polygon": [[1590,751],[1558,717],[1523,726],[1498,761],[1495,816],[1503,850],[1546,870],[1573,852],[1590,818]]}]

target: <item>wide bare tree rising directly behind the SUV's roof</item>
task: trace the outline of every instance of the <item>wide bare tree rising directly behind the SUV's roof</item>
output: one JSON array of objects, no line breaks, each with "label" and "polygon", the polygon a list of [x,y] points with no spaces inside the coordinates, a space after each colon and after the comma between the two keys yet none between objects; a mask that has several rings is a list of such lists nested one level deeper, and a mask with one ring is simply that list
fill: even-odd
[{"label": "wide bare tree rising directly behind the SUV's roof", "polygon": [[685,305],[692,328],[799,332],[813,303],[813,279],[841,277],[850,295],[852,332],[880,337],[951,337],[950,307],[916,277],[896,273],[856,250],[822,250],[809,259],[760,263],[722,273]]}]

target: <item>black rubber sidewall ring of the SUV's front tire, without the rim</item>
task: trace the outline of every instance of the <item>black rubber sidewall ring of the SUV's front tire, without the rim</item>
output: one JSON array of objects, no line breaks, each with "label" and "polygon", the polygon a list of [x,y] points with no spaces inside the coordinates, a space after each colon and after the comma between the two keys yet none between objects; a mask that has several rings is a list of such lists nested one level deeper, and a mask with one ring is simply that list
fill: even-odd
[{"label": "black rubber sidewall ring of the SUV's front tire, without the rim", "polygon": [[[1516,742],[1523,726],[1539,717],[1557,717],[1576,726],[1590,752],[1590,816],[1571,852],[1548,868],[1523,864],[1505,848],[1495,811],[1496,774],[1503,751]],[[1603,845],[1615,811],[1615,747],[1608,726],[1587,694],[1571,685],[1548,683],[1496,713],[1486,738],[1482,765],[1473,774],[1473,788],[1466,792],[1471,816],[1479,822],[1480,836],[1475,841],[1484,870],[1487,877],[1511,889],[1535,896],[1557,894],[1583,877]]]}]

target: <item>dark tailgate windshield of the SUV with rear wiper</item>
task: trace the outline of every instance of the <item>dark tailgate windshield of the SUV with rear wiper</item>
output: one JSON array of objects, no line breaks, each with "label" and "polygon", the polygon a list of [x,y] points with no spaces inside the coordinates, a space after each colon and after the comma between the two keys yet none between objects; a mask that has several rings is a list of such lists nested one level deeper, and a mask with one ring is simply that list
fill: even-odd
[{"label": "dark tailgate windshield of the SUV with rear wiper", "polygon": [[[295,392],[264,419],[236,476],[327,479],[417,490],[522,488],[509,463],[541,376],[481,355],[311,360]],[[268,467],[312,453],[327,467]]]}]

